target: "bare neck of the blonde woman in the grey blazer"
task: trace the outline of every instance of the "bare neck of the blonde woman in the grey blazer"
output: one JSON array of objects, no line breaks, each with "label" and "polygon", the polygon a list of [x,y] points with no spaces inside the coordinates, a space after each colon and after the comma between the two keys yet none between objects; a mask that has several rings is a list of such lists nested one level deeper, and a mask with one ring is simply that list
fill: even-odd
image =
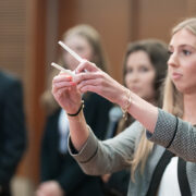
[{"label": "bare neck of the blonde woman in the grey blazer", "polygon": [[183,120],[196,124],[196,94],[184,95],[184,114]]}]

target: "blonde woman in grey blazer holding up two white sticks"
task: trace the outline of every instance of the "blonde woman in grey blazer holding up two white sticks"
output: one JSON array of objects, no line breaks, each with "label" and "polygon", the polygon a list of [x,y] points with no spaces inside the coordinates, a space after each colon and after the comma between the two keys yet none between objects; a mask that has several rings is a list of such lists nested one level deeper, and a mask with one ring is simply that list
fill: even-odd
[{"label": "blonde woman in grey blazer holding up two white sticks", "polygon": [[[93,175],[131,167],[133,177],[127,195],[196,195],[195,17],[173,28],[169,52],[163,110],[146,102],[87,61],[76,69],[74,84],[62,74],[53,78],[53,95],[69,113],[78,110],[81,93],[89,90],[118,103],[138,120],[117,137],[99,142],[82,111],[69,118],[72,156]],[[68,100],[73,105],[68,106]],[[156,143],[148,149],[143,144],[146,143],[144,127],[147,137]],[[144,150],[148,156],[143,158]],[[137,155],[140,159],[135,159]]]}]

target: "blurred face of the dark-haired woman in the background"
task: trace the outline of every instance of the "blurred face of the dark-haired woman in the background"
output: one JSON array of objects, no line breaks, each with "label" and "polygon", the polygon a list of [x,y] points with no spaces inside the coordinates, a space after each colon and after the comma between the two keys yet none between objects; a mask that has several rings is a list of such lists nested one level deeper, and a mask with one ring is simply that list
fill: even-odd
[{"label": "blurred face of the dark-haired woman in the background", "polygon": [[150,102],[156,96],[155,77],[156,71],[145,51],[138,50],[127,57],[125,85]]}]

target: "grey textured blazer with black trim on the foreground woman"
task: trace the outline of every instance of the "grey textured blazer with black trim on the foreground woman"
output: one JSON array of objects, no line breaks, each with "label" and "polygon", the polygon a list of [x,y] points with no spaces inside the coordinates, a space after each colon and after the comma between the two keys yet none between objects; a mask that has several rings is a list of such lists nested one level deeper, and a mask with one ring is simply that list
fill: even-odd
[{"label": "grey textured blazer with black trim on the foreground woman", "polygon": [[[181,156],[177,161],[177,179],[182,196],[196,195],[196,163],[195,163],[195,133],[196,127],[189,123],[159,110],[155,133],[150,139],[161,143],[174,155]],[[90,175],[102,175],[120,171],[127,167],[132,160],[134,151],[138,145],[144,127],[138,122],[134,122],[130,127],[112,139],[99,142],[93,132],[89,134],[84,148],[75,152],[71,139],[69,147],[71,155],[77,160],[85,173]],[[168,145],[170,144],[170,145]],[[193,157],[191,157],[191,155]],[[138,167],[135,171],[135,182],[130,181],[127,195],[154,196],[171,156],[166,154],[166,148],[155,145],[149,155],[144,173]],[[191,162],[194,161],[194,162]],[[159,170],[160,169],[160,170]],[[158,179],[158,181],[156,181]],[[158,183],[157,183],[158,182]]]}]

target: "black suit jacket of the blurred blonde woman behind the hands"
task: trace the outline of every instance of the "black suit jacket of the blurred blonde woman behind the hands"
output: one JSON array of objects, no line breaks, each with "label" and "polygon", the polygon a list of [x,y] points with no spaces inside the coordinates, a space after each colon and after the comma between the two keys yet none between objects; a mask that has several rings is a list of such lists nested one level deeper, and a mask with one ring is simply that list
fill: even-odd
[{"label": "black suit jacket of the blurred blonde woman behind the hands", "polygon": [[[98,138],[105,138],[111,102],[93,93],[88,93],[84,101],[87,123]],[[47,119],[41,145],[41,181],[58,181],[66,196],[101,196],[100,177],[86,175],[69,152],[59,152],[59,114],[60,110]]]}]

